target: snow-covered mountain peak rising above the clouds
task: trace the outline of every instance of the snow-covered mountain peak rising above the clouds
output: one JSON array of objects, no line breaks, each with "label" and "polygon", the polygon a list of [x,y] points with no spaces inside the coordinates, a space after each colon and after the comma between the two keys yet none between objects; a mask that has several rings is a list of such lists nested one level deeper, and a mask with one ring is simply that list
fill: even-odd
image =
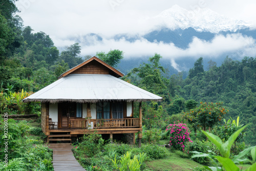
[{"label": "snow-covered mountain peak rising above the clouds", "polygon": [[220,15],[209,8],[186,10],[178,5],[164,10],[153,19],[158,20],[160,25],[171,30],[179,28],[184,30],[191,27],[199,32],[208,31],[211,33],[219,33],[220,31],[236,32],[251,26],[249,22]]}]

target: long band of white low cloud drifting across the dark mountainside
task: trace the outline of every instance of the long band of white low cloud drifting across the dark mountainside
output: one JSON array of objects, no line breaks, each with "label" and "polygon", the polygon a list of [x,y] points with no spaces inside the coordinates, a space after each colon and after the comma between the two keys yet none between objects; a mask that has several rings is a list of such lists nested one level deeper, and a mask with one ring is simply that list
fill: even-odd
[{"label": "long band of white low cloud drifting across the dark mountainside", "polygon": [[[217,35],[211,41],[205,41],[194,37],[187,49],[180,49],[173,43],[165,44],[163,42],[150,42],[144,38],[137,39],[133,42],[127,41],[124,37],[115,40],[114,38],[98,39],[95,35],[80,36],[81,56],[95,55],[96,52],[109,52],[110,50],[119,49],[124,52],[124,58],[137,58],[153,56],[155,53],[161,54],[164,59],[169,59],[172,66],[180,70],[176,59],[187,57],[192,58],[217,58],[220,55],[235,54],[237,57],[255,56],[256,45],[255,39],[243,36],[242,34]],[[62,46],[71,41],[55,40],[56,46]],[[58,45],[59,43],[59,45]],[[74,44],[73,41],[71,44]],[[70,44],[70,45],[71,45]]]}]

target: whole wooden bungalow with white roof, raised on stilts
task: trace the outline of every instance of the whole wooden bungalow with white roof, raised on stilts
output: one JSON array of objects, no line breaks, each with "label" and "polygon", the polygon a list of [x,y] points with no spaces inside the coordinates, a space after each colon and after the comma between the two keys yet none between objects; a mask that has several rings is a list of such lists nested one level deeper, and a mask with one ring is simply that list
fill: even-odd
[{"label": "whole wooden bungalow with white roof, raised on stilts", "polygon": [[[25,98],[41,102],[41,128],[48,141],[70,141],[89,134],[139,134],[142,137],[141,102],[162,98],[119,79],[123,74],[93,56],[61,74],[58,80]],[[139,102],[139,118],[133,104]],[[135,143],[135,138],[134,138]]]}]

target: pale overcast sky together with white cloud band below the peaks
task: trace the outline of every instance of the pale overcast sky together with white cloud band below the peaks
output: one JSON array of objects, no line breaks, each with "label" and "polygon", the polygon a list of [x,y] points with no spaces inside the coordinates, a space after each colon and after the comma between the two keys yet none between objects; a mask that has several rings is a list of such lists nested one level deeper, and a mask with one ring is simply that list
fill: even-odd
[{"label": "pale overcast sky together with white cloud band below the peaks", "polygon": [[[43,31],[53,39],[55,46],[74,44],[69,37],[79,37],[96,33],[104,37],[99,44],[82,47],[82,55],[94,55],[98,51],[110,49],[124,51],[124,57],[153,56],[160,53],[174,61],[175,58],[194,56],[218,56],[237,50],[241,55],[255,56],[255,41],[242,35],[217,36],[211,42],[195,38],[186,50],[173,44],[151,43],[145,39],[128,42],[115,41],[115,34],[143,34],[152,29],[148,22],[162,11],[179,5],[187,10],[210,8],[221,15],[242,19],[256,26],[256,2],[252,0],[19,0],[16,6],[25,26],[31,26],[35,32]],[[255,27],[256,28],[256,27]],[[227,46],[229,45],[229,46]],[[254,57],[253,56],[253,57]],[[175,63],[173,64],[175,65]]]}]

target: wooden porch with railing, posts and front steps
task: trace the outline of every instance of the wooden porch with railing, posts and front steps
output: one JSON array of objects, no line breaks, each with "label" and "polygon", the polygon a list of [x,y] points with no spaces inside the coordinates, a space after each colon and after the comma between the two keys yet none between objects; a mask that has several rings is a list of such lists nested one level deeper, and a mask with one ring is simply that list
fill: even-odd
[{"label": "wooden porch with railing, posts and front steps", "polygon": [[[139,138],[142,137],[142,110],[141,102],[139,105],[139,118],[133,118],[133,108],[131,108],[131,117],[126,114],[121,115],[124,118],[119,119],[95,119],[95,106],[87,104],[86,117],[82,115],[81,118],[70,117],[70,115],[55,117],[56,115],[49,115],[49,103],[42,103],[41,127],[42,131],[47,135],[49,141],[71,142],[72,137],[83,134],[110,134],[110,139],[113,134],[134,134],[140,133]],[[92,108],[93,106],[93,108]],[[88,108],[89,107],[89,108]],[[57,109],[57,108],[56,108]],[[94,109],[94,114],[91,115],[91,109]],[[57,111],[57,110],[56,110]],[[126,111],[126,110],[125,110]],[[56,113],[56,112],[55,112]],[[51,118],[53,116],[53,118]],[[76,115],[75,115],[76,116]],[[93,116],[93,119],[92,119]],[[114,116],[114,115],[110,115]],[[59,121],[59,122],[57,122]],[[140,140],[139,140],[140,141]],[[135,141],[134,141],[135,143]]]}]

